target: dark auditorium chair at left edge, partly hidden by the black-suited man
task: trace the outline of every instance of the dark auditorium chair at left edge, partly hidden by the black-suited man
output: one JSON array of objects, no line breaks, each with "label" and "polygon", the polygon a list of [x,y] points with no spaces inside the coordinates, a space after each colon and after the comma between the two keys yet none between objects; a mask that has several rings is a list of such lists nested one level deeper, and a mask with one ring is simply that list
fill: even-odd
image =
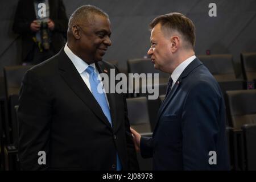
[{"label": "dark auditorium chair at left edge, partly hidden by the black-suited man", "polygon": [[6,125],[6,139],[5,143],[5,158],[6,170],[19,169],[18,163],[18,123],[16,117],[15,106],[18,105],[19,90],[24,74],[30,69],[32,65],[16,65],[4,67],[3,75],[5,79],[5,125]]}]

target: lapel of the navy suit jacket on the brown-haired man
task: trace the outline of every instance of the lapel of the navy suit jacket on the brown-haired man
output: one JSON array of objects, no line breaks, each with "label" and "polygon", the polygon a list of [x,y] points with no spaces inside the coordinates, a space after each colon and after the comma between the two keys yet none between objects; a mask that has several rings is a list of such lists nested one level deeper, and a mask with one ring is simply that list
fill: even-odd
[{"label": "lapel of the navy suit jacket on the brown-haired man", "polygon": [[171,92],[167,95],[167,97],[163,101],[163,104],[159,108],[158,116],[156,117],[157,123],[156,123],[156,126],[155,126],[155,131],[156,131],[157,127],[158,127],[160,116],[162,115],[162,113],[166,109],[166,107],[170,104],[170,102],[171,102],[172,98],[175,96],[178,88],[180,88],[181,81],[183,79],[185,79],[185,77],[187,77],[189,75],[189,73],[191,73],[193,71],[193,69],[199,67],[201,64],[203,64],[203,63],[201,63],[201,61],[196,58],[181,73],[180,77],[175,82],[174,87],[171,89]]}]

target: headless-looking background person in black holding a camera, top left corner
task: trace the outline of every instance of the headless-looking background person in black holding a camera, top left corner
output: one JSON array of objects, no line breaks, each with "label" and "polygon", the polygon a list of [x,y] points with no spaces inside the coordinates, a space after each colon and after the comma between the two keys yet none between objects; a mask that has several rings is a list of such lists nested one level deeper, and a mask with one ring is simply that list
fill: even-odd
[{"label": "headless-looking background person in black holding a camera, top left corner", "polygon": [[[46,6],[40,6],[40,3]],[[43,11],[45,14],[40,17]],[[48,49],[42,44],[40,22],[46,22],[48,26]],[[13,31],[22,36],[22,62],[38,64],[59,52],[66,42],[67,28],[68,19],[62,0],[20,0]]]}]

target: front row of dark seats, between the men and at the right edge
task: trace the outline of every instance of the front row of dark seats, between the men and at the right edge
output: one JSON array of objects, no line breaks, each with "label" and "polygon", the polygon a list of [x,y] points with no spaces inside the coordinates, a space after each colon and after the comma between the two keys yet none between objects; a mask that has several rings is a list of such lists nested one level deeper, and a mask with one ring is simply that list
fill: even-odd
[{"label": "front row of dark seats, between the men and at the right edge", "polygon": [[[230,167],[233,170],[256,170],[256,90],[233,90],[226,95],[230,118],[226,127]],[[163,100],[164,95],[155,101],[146,97],[127,98],[131,127],[144,136],[150,136],[156,125],[156,120],[150,115],[156,117]],[[138,154],[138,160],[141,169],[152,167],[152,159],[142,159]]]}]

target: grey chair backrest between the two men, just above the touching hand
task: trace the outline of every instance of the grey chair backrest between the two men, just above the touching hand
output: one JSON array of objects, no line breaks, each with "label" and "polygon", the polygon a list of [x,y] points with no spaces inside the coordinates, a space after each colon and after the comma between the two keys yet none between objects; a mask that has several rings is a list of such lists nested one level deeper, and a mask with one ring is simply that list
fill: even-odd
[{"label": "grey chair backrest between the two men, just above the touching hand", "polygon": [[128,118],[138,133],[150,133],[150,116],[146,97],[127,98]]}]

